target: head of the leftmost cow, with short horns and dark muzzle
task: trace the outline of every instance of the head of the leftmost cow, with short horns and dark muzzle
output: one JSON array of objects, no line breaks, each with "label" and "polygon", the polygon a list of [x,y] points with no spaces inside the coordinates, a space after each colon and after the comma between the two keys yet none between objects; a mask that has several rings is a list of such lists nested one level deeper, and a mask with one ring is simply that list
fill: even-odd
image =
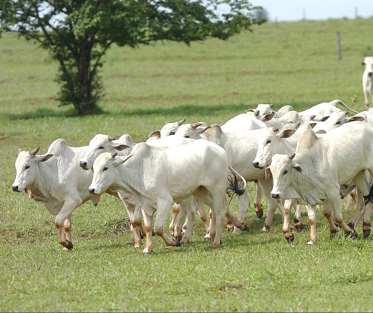
[{"label": "head of the leftmost cow, with short horns and dark muzzle", "polygon": [[47,161],[53,154],[37,155],[39,148],[31,151],[23,151],[18,147],[18,156],[16,159],[16,179],[12,184],[13,191],[27,192],[35,180],[39,177],[39,162]]}]

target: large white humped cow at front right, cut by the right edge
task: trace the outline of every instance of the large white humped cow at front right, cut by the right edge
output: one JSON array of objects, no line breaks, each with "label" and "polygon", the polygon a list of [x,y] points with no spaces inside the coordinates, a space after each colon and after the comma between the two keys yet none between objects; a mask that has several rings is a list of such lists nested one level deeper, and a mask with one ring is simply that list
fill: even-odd
[{"label": "large white humped cow at front right, cut by the right edge", "polygon": [[[364,170],[373,173],[373,127],[367,123],[347,123],[317,135],[306,130],[299,138],[295,154],[273,154],[266,178],[273,177],[273,198],[300,199],[306,205],[311,226],[308,244],[316,243],[316,205],[323,204],[323,214],[329,222],[330,234],[335,237],[340,224],[345,234],[357,236],[345,224],[341,213],[341,186],[355,184],[363,193],[365,203],[372,201],[373,189]],[[351,153],[352,152],[352,153]],[[283,232],[291,242],[294,235],[289,228],[290,211],[285,205]],[[334,221],[333,221],[333,218]],[[370,226],[370,209],[366,208],[364,227]],[[364,228],[363,228],[363,231]],[[370,232],[370,230],[369,230]]]}]

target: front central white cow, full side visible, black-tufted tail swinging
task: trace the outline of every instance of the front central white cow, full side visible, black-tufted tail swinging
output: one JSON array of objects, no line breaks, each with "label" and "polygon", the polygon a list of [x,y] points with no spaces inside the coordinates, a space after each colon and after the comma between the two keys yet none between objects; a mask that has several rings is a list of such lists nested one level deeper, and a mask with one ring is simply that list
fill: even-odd
[{"label": "front central white cow, full side visible, black-tufted tail swinging", "polygon": [[[211,247],[220,246],[225,216],[235,220],[236,226],[240,225],[242,230],[247,228],[247,225],[233,216],[225,197],[228,177],[231,173],[239,174],[230,167],[224,149],[212,142],[195,140],[173,147],[138,143],[131,154],[125,157],[116,157],[116,154],[107,152],[101,154],[95,160],[93,169],[90,193],[101,194],[110,188],[131,204],[127,209],[136,233],[135,247],[139,248],[141,238],[137,226],[141,220],[134,219],[133,211],[134,206],[141,206],[147,231],[143,253],[153,250],[151,232],[156,211],[154,232],[168,246],[181,244],[164,233],[164,225],[173,201],[180,202],[192,195],[213,210],[210,234],[214,241]],[[231,187],[235,192],[243,193],[243,189],[237,185]],[[192,222],[194,217],[188,214],[189,218]],[[188,232],[190,229],[186,230],[186,234]]]}]

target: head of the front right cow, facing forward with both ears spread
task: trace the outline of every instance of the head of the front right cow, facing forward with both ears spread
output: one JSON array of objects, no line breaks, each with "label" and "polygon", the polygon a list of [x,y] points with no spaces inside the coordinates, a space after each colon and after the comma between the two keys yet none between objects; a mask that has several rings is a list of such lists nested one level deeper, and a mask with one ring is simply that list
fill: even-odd
[{"label": "head of the front right cow, facing forward with both ears spread", "polygon": [[275,199],[294,199],[298,198],[297,193],[291,187],[291,184],[297,180],[296,175],[305,176],[300,165],[296,164],[293,159],[295,154],[272,154],[272,162],[266,168],[266,179],[273,178],[273,188],[271,196]]}]

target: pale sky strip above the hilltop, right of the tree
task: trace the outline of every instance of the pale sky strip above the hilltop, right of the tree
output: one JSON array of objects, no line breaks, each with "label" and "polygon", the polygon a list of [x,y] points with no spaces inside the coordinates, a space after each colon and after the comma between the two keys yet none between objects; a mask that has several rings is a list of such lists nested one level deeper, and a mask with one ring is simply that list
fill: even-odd
[{"label": "pale sky strip above the hilltop, right of the tree", "polygon": [[326,20],[328,18],[362,18],[373,16],[373,0],[251,0],[254,6],[267,10],[269,20]]}]

